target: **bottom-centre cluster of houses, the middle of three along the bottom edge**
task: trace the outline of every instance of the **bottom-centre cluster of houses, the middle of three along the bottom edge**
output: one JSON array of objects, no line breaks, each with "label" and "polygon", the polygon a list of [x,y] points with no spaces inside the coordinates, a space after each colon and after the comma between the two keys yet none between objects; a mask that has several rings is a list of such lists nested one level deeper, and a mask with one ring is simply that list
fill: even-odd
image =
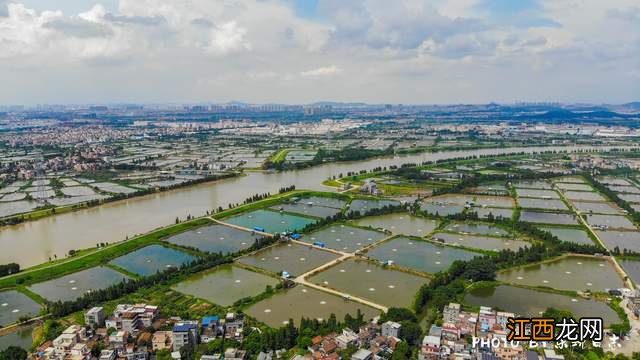
[{"label": "bottom-centre cluster of houses, the middle of three along the bottom edge", "polygon": [[339,352],[348,347],[358,349],[351,355],[352,360],[390,359],[401,341],[400,328],[401,325],[393,321],[382,325],[372,322],[360,327],[358,332],[345,328],[340,334],[316,336],[307,349],[309,354],[296,355],[293,360],[338,360],[341,359]]}]

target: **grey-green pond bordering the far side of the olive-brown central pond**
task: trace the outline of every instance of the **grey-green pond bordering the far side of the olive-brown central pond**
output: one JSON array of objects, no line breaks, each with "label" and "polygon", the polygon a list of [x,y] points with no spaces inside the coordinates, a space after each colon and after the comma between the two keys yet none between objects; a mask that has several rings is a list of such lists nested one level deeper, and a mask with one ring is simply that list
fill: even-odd
[{"label": "grey-green pond bordering the far side of the olive-brown central pond", "polygon": [[370,249],[366,256],[381,262],[391,260],[401,267],[436,273],[448,268],[456,260],[469,260],[480,254],[398,237]]}]

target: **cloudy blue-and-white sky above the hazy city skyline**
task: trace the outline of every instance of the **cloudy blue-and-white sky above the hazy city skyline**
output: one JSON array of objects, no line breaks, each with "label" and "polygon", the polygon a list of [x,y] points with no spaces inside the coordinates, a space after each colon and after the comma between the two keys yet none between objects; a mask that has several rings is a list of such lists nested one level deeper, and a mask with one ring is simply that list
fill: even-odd
[{"label": "cloudy blue-and-white sky above the hazy city skyline", "polygon": [[638,0],[0,0],[0,104],[624,103]]}]

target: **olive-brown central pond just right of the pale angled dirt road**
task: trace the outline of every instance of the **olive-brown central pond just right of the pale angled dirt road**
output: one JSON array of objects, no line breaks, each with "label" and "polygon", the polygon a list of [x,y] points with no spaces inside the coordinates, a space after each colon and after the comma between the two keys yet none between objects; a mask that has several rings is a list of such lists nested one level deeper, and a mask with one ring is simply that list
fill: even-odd
[{"label": "olive-brown central pond just right of the pale angled dirt road", "polygon": [[362,260],[347,260],[308,279],[350,295],[386,306],[410,306],[420,286],[429,279],[385,269]]}]

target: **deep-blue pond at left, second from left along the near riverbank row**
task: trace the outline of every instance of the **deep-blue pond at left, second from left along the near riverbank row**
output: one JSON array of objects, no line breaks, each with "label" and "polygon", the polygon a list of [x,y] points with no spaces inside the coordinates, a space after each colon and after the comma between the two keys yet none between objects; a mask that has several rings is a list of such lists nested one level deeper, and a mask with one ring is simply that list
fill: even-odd
[{"label": "deep-blue pond at left, second from left along the near riverbank row", "polygon": [[182,251],[161,245],[150,245],[115,258],[110,263],[134,274],[148,276],[171,267],[180,267],[196,259],[195,256]]}]

